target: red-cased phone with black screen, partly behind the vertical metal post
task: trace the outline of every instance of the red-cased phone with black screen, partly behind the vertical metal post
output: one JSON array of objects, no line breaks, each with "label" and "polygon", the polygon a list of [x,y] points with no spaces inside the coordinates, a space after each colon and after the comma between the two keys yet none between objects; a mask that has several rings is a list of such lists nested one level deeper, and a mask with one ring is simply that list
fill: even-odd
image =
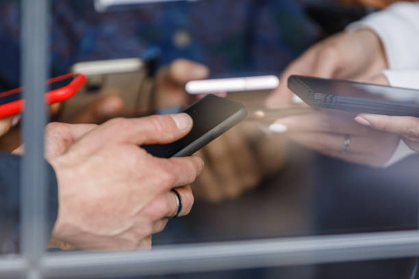
[{"label": "red-cased phone with black screen, partly behind the vertical metal post", "polygon": [[[45,103],[51,105],[71,98],[86,83],[81,74],[68,74],[54,77],[47,81],[49,91],[45,94]],[[23,88],[16,88],[0,93],[0,118],[20,114],[25,107],[22,96]]]}]

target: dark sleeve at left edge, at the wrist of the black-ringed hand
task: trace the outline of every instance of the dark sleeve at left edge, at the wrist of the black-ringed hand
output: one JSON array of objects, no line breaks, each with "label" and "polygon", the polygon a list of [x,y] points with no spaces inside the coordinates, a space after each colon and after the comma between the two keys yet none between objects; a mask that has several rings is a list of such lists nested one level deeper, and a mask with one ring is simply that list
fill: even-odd
[{"label": "dark sleeve at left edge, at the wrist of the black-ringed hand", "polygon": [[[0,152],[0,254],[19,252],[21,156]],[[58,213],[55,172],[47,163],[47,224],[51,233]]]}]

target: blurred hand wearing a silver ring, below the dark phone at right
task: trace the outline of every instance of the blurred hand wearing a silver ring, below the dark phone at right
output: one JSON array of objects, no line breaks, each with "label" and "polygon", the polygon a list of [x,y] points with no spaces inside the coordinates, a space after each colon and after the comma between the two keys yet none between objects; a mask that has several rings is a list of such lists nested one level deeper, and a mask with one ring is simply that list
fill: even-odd
[{"label": "blurred hand wearing a silver ring, below the dark phone at right", "polygon": [[[329,109],[277,120],[271,127],[325,155],[379,167],[392,157],[399,137],[358,124],[354,115]],[[277,127],[277,128],[275,128]]]}]

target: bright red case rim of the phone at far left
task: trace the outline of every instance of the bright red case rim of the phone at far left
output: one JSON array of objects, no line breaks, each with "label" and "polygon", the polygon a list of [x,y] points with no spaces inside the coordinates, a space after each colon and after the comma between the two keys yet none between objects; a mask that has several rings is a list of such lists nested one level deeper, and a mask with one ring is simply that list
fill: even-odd
[{"label": "bright red case rim of the phone at far left", "polygon": [[[68,98],[71,98],[86,83],[87,79],[85,75],[71,73],[67,75],[62,75],[60,77],[53,77],[52,79],[49,79],[47,81],[47,84],[51,84],[72,77],[73,80],[64,87],[51,90],[45,94],[45,103],[47,105],[59,103],[67,100]],[[16,88],[13,90],[1,92],[0,98],[10,96],[12,94],[17,94],[22,90],[23,88]],[[20,114],[23,111],[23,109],[25,109],[25,100],[23,99],[0,105],[0,118]]]}]

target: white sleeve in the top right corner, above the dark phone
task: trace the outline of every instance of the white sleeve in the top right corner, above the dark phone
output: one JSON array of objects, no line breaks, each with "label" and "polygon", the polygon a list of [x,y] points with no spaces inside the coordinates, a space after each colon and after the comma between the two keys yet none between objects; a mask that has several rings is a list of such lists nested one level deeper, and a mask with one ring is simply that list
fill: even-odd
[{"label": "white sleeve in the top right corner, above the dark phone", "polygon": [[372,29],[383,42],[390,69],[419,69],[419,3],[401,2],[348,25]]}]

